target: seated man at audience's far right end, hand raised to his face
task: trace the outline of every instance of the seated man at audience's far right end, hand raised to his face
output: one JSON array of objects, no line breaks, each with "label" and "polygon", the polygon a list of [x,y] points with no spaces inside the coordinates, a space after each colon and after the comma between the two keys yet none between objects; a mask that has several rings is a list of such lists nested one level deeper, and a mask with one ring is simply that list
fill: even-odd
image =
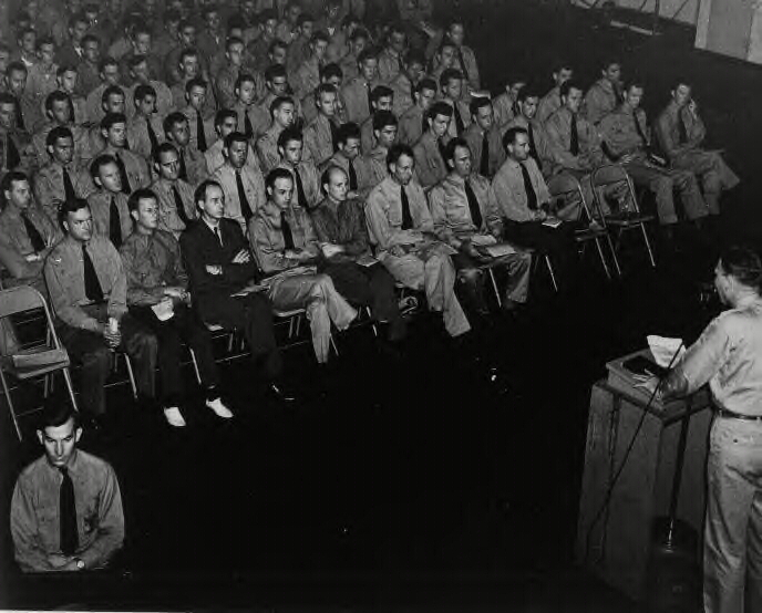
[{"label": "seated man at audience's far right end, hand raised to his face", "polygon": [[707,128],[688,83],[677,83],[672,100],[656,121],[656,129],[671,167],[689,170],[699,177],[709,214],[720,215],[720,196],[740,181],[719,152],[701,148]]}]

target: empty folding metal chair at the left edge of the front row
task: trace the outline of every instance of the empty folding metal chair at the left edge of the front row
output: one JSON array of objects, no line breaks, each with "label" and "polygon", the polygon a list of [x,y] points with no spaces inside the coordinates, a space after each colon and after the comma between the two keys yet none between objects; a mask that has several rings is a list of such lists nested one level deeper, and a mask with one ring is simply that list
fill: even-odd
[{"label": "empty folding metal chair at the left edge of the front row", "polygon": [[[18,285],[8,290],[0,290],[0,320],[11,315],[24,314],[29,313],[30,311],[39,310],[42,310],[44,313],[47,326],[45,337],[25,345],[19,345],[12,349],[9,347],[8,353],[0,356],[0,383],[2,383],[2,391],[6,395],[8,408],[10,411],[11,418],[13,419],[13,426],[16,427],[16,434],[18,435],[19,440],[22,439],[21,428],[19,427],[19,417],[23,417],[24,415],[33,413],[34,411],[39,411],[39,408],[17,414],[7,376],[16,378],[17,381],[45,377],[47,392],[48,377],[52,376],[58,371],[62,371],[63,378],[66,384],[66,391],[69,392],[69,398],[71,399],[74,409],[79,411],[76,406],[76,397],[74,396],[74,388],[71,382],[71,373],[69,371],[69,354],[59,341],[58,334],[55,333],[53,319],[45,299],[40,292],[29,285]],[[50,357],[51,362],[48,362],[44,359],[45,352],[50,352],[48,357]],[[19,365],[17,360],[20,356],[27,356],[27,359],[30,361],[34,361],[37,357],[37,363]]]}]

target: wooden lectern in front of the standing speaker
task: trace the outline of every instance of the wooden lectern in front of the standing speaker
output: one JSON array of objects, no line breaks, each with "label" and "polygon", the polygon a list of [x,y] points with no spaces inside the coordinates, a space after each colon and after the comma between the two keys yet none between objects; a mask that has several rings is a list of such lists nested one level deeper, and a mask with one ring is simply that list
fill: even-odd
[{"label": "wooden lectern in front of the standing speaker", "polygon": [[[650,394],[635,388],[631,374],[622,366],[636,355],[651,357],[646,350],[608,363],[608,380],[599,381],[591,389],[577,561],[631,599],[641,601],[647,595],[655,521],[670,515],[676,482],[672,507],[677,517],[701,533],[712,414],[709,395],[700,392],[668,404],[655,401],[643,415]],[[605,506],[610,484],[641,418],[632,450]],[[605,510],[600,512],[601,509]]]}]

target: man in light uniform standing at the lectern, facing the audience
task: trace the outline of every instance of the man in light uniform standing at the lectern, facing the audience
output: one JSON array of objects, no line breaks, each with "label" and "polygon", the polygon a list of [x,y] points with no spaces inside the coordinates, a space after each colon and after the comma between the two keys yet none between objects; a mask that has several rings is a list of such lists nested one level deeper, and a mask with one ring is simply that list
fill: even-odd
[{"label": "man in light uniform standing at the lectern, facing the audience", "polygon": [[[706,613],[762,611],[762,260],[730,248],[714,269],[730,306],[661,383],[665,399],[709,383],[712,424],[703,550]],[[745,594],[744,594],[745,592]],[[745,601],[745,604],[744,604]]]}]

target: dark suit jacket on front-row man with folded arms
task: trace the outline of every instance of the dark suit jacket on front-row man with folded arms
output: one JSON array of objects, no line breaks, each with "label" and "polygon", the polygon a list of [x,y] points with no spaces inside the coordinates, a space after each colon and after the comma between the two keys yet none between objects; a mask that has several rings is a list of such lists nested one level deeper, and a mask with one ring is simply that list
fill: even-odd
[{"label": "dark suit jacket on front-row man with folded arms", "polygon": [[[230,219],[220,219],[219,231],[223,237],[222,246],[206,221],[199,219],[179,238],[190,292],[202,313],[207,310],[209,303],[225,300],[249,281],[261,277],[254,257],[245,264],[231,263],[236,253],[241,249],[249,249],[240,225]],[[209,274],[206,271],[207,264],[222,266],[223,273]]]}]

